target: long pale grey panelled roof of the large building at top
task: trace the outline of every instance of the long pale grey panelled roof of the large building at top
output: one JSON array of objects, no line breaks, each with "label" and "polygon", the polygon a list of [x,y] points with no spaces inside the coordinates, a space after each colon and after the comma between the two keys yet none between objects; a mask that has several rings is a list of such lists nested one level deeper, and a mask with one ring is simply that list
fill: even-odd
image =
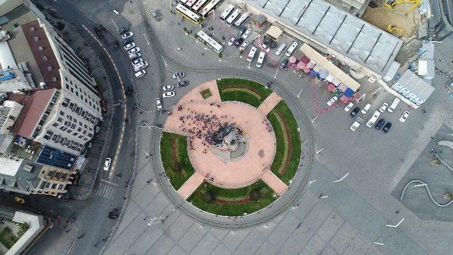
[{"label": "long pale grey panelled roof of the large building at top", "polygon": [[403,45],[403,40],[323,0],[245,1],[380,75]]}]

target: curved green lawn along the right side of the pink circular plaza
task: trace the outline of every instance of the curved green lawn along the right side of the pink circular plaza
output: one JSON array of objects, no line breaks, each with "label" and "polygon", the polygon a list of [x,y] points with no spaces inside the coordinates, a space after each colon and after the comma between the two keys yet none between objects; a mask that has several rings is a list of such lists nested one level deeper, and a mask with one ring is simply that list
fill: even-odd
[{"label": "curved green lawn along the right side of the pink circular plaza", "polygon": [[277,141],[275,158],[270,170],[288,185],[299,167],[302,149],[300,134],[297,130],[299,125],[285,101],[280,101],[268,113],[268,120],[273,125]]}]

